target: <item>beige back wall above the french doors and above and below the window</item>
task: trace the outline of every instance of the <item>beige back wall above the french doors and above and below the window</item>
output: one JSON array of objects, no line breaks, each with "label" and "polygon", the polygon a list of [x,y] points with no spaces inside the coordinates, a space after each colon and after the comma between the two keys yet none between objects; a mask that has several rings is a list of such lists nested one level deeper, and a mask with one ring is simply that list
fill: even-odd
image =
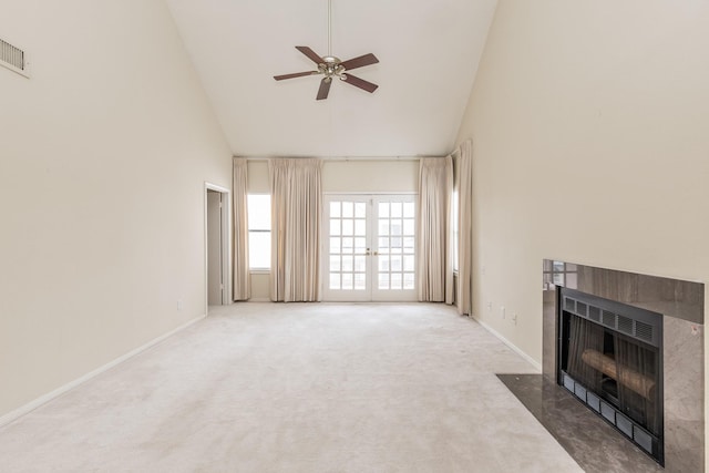
[{"label": "beige back wall above the french doors and above and below the window", "polygon": [[[249,162],[249,193],[268,194],[268,163]],[[326,193],[414,193],[418,188],[418,161],[326,161],[322,166]],[[268,287],[267,274],[251,274],[251,300],[268,300]]]}]

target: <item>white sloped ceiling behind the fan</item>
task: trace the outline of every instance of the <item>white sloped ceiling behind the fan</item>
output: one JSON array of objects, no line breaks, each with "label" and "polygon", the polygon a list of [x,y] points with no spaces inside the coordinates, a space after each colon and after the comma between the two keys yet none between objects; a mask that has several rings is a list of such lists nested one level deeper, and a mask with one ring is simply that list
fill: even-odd
[{"label": "white sloped ceiling behind the fan", "polygon": [[496,0],[332,0],[332,55],[374,53],[354,74],[369,94],[321,76],[296,45],[328,53],[327,0],[167,0],[235,155],[436,156],[452,151]]}]

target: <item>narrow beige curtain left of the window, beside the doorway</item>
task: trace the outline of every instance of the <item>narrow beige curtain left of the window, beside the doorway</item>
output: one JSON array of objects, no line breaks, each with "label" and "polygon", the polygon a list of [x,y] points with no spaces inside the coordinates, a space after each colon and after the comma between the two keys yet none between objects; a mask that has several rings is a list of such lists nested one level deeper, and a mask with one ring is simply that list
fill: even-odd
[{"label": "narrow beige curtain left of the window, beside the doorway", "polygon": [[251,284],[248,264],[248,206],[247,206],[247,162],[234,158],[234,178],[232,185],[233,235],[234,235],[234,300],[251,297]]}]

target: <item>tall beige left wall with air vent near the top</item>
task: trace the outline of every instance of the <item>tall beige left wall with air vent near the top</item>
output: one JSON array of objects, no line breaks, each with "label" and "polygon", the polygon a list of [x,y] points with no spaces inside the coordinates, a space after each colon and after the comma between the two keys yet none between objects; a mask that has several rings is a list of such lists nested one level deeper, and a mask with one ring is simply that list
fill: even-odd
[{"label": "tall beige left wall with air vent near the top", "polygon": [[161,0],[6,0],[0,38],[2,415],[204,313],[230,152]]}]

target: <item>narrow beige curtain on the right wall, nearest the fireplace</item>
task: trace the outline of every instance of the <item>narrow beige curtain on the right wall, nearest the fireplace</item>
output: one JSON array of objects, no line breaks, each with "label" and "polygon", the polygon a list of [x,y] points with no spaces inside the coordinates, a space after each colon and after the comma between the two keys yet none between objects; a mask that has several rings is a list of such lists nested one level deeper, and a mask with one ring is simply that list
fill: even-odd
[{"label": "narrow beige curtain on the right wall, nearest the fireplace", "polygon": [[458,312],[472,313],[473,299],[473,145],[470,140],[459,148],[458,174]]}]

